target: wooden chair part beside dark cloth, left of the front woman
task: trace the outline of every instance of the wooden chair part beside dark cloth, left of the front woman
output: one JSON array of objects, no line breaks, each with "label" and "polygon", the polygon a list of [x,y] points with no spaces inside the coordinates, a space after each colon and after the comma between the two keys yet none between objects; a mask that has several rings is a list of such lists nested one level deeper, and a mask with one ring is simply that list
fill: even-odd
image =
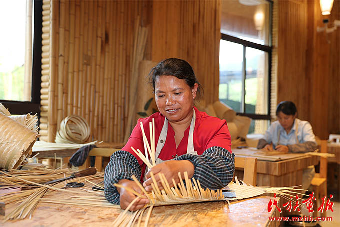
[{"label": "wooden chair part beside dark cloth, left of the front woman", "polygon": [[93,148],[89,152],[85,163],[82,166],[79,166],[79,169],[89,168],[91,165],[90,157],[95,156],[94,167],[97,168],[98,172],[102,172],[103,171],[103,166],[102,166],[103,157],[111,157],[111,155],[118,150],[121,150],[121,148]]}]

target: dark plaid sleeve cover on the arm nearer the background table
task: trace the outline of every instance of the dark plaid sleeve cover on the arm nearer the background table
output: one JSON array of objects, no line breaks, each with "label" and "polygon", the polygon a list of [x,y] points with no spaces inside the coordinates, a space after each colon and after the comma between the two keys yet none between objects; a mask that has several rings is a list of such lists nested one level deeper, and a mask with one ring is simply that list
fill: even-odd
[{"label": "dark plaid sleeve cover on the arm nearer the background table", "polygon": [[222,147],[210,147],[202,155],[184,154],[175,160],[189,160],[195,166],[193,177],[203,188],[217,190],[231,182],[235,171],[235,154]]}]

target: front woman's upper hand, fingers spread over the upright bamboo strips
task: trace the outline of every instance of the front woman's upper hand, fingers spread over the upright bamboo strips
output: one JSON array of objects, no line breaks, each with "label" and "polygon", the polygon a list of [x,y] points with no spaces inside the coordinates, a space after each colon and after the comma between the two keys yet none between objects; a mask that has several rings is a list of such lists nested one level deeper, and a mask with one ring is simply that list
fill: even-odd
[{"label": "front woman's upper hand, fingers spread over the upright bamboo strips", "polygon": [[163,189],[163,186],[161,184],[159,173],[162,173],[162,174],[165,175],[165,178],[166,178],[167,182],[169,183],[169,186],[172,187],[172,186],[174,186],[173,183],[172,183],[172,179],[175,180],[176,184],[179,183],[179,177],[178,177],[179,172],[181,173],[181,177],[184,180],[184,172],[186,171],[189,179],[191,179],[191,177],[194,174],[194,170],[195,170],[194,165],[188,160],[166,161],[166,162],[163,162],[163,163],[160,163],[160,164],[154,166],[152,169],[150,169],[146,173],[145,176],[146,176],[147,180],[144,182],[143,186],[145,187],[146,191],[152,190],[151,183],[153,181],[152,181],[150,172],[152,172],[154,174],[154,178],[157,181],[159,189],[161,190],[161,189]]}]

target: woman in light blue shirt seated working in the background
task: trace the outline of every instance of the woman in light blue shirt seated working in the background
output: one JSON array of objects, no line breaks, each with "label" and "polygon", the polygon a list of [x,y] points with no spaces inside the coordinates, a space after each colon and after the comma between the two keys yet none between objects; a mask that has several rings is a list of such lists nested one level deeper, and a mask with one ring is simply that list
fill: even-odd
[{"label": "woman in light blue shirt seated working in the background", "polygon": [[257,149],[267,151],[312,152],[317,149],[313,129],[308,121],[297,119],[296,106],[291,101],[280,102],[274,121],[260,139]]}]

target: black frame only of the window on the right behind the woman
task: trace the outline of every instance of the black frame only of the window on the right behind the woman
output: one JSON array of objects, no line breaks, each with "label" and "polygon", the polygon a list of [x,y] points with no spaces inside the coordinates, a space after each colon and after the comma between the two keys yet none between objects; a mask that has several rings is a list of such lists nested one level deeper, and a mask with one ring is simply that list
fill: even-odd
[{"label": "black frame only of the window on the right behind the woman", "polygon": [[[270,113],[270,102],[271,102],[271,56],[272,56],[272,1],[267,1],[269,3],[269,45],[262,45],[258,43],[254,43],[251,41],[243,40],[238,37],[234,37],[231,35],[227,35],[221,33],[221,40],[226,40],[229,42],[237,43],[243,45],[243,66],[242,66],[242,98],[241,98],[241,105],[242,105],[242,112],[236,112],[237,115],[240,116],[247,116],[253,120],[271,120],[271,113]],[[246,47],[254,48],[257,50],[264,51],[268,53],[268,113],[267,114],[252,114],[246,113],[245,109],[245,79],[246,79],[246,56],[245,56],[245,49]]]}]

